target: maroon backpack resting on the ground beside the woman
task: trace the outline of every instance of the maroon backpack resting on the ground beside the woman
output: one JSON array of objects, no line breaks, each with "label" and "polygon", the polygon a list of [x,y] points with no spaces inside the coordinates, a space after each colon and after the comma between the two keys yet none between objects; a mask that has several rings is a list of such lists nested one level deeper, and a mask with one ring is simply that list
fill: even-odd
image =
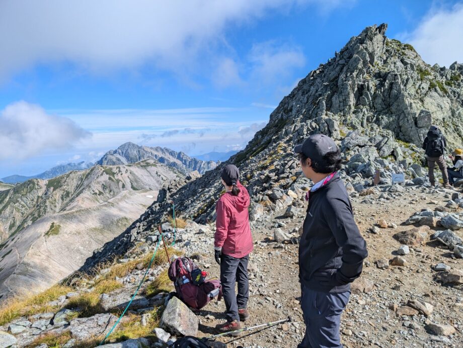
[{"label": "maroon backpack resting on the ground beside the woman", "polygon": [[204,280],[199,285],[193,283],[191,271],[198,269],[187,257],[177,258],[169,267],[169,279],[174,282],[179,298],[194,309],[201,309],[214,297],[220,301],[222,289],[217,279]]}]

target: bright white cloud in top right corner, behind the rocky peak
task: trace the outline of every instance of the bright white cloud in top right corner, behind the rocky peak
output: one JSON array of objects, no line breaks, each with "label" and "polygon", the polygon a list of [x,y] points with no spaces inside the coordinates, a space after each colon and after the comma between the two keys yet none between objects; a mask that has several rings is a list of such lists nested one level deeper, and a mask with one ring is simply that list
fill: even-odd
[{"label": "bright white cloud in top right corner, behind the rocky peak", "polygon": [[463,5],[432,9],[411,33],[399,38],[410,43],[426,63],[449,66],[463,61]]}]

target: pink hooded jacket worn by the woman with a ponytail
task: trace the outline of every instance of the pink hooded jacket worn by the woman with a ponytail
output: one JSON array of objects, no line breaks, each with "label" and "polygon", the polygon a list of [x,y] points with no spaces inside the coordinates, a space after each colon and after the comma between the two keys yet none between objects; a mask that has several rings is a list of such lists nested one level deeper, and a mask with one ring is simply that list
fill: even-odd
[{"label": "pink hooded jacket worn by the woman with a ponytail", "polygon": [[237,186],[238,196],[226,192],[217,201],[214,247],[221,248],[224,255],[241,259],[253,251],[254,245],[249,226],[249,193],[239,181]]}]

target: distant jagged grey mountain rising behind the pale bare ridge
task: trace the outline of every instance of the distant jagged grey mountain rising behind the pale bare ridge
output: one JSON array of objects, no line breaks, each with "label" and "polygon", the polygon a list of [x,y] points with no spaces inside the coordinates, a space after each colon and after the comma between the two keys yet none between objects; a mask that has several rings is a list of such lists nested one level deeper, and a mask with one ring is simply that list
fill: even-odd
[{"label": "distant jagged grey mountain rising behind the pale bare ridge", "polygon": [[97,164],[112,166],[135,163],[146,159],[153,159],[174,167],[184,174],[194,170],[203,174],[217,166],[213,161],[201,161],[187,156],[183,152],[176,152],[159,146],[154,148],[139,146],[130,142],[122,144],[116,150],[108,151]]}]

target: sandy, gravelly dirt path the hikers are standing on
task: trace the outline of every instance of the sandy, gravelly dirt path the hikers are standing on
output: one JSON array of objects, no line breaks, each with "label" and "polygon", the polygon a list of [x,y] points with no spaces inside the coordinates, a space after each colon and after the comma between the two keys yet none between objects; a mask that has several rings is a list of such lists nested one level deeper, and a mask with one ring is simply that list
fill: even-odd
[{"label": "sandy, gravelly dirt path the hikers are standing on", "polygon": [[[432,269],[440,262],[452,268],[463,269],[462,259],[452,258],[452,254],[440,243],[428,242],[420,248],[412,249],[405,256],[407,264],[403,267],[390,266],[389,269],[381,270],[375,266],[378,259],[392,259],[394,252],[400,247],[393,235],[413,227],[401,225],[402,222],[416,211],[433,209],[436,204],[431,201],[445,204],[448,197],[445,198],[442,193],[428,193],[424,188],[405,192],[389,201],[381,202],[378,197],[379,194],[375,194],[352,199],[356,221],[368,244],[369,256],[365,260],[362,277],[373,281],[374,287],[367,294],[351,295],[341,323],[343,344],[346,347],[463,346],[462,287],[440,286],[433,280],[436,272]],[[365,198],[374,203],[361,203]],[[250,260],[251,318],[246,321],[246,326],[288,316],[292,321],[254,334],[243,334],[238,339],[220,338],[231,347],[296,347],[303,336],[305,327],[299,305],[298,246],[281,245],[272,241],[276,221],[286,223],[281,228],[290,232],[301,225],[303,216],[295,219],[275,217],[277,216],[266,217],[265,222],[258,222],[253,228],[255,250]],[[398,227],[380,229],[378,234],[369,233],[367,229],[379,219],[395,223]],[[205,239],[212,238],[212,235],[212,231],[207,233]],[[218,275],[219,268],[208,249],[210,245],[203,245],[202,252],[207,257],[200,262],[200,267],[210,265],[208,272]],[[430,318],[422,315],[400,317],[389,309],[392,304],[405,304],[414,298],[424,299],[434,305]],[[223,322],[224,310],[223,301],[214,301],[200,312],[200,331],[203,336],[213,334],[215,325]],[[444,338],[431,335],[424,328],[427,320],[453,324],[457,332]]]}]

